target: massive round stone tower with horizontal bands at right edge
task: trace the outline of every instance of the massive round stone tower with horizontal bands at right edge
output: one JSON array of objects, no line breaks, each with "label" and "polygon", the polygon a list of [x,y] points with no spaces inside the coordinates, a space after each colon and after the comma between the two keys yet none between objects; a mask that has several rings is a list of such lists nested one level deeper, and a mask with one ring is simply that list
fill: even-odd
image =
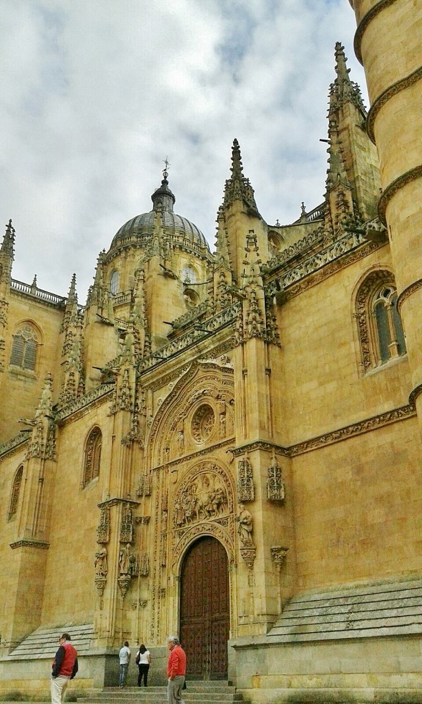
[{"label": "massive round stone tower with horizontal bands at right edge", "polygon": [[357,18],[354,50],[364,65],[369,136],[381,165],[379,215],[388,226],[422,420],[422,3],[350,0]]}]

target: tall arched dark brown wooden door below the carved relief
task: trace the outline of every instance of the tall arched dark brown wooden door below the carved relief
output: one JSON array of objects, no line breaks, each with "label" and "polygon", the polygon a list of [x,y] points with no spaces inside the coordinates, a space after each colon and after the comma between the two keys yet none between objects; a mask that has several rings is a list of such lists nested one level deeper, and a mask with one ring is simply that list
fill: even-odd
[{"label": "tall arched dark brown wooden door below the carved relief", "polygon": [[181,567],[180,641],[189,679],[227,679],[229,571],[222,543],[200,538]]}]

